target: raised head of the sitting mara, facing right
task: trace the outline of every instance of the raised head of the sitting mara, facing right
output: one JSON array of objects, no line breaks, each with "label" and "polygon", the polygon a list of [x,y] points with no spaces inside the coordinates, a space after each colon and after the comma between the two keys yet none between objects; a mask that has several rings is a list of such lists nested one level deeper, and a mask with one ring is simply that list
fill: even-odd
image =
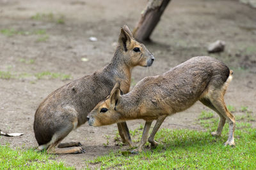
[{"label": "raised head of the sitting mara, facing right", "polygon": [[134,39],[132,32],[127,25],[121,27],[118,39],[118,46],[124,55],[125,63],[131,67],[134,66],[151,66],[154,62],[154,56],[148,51],[145,45]]}]

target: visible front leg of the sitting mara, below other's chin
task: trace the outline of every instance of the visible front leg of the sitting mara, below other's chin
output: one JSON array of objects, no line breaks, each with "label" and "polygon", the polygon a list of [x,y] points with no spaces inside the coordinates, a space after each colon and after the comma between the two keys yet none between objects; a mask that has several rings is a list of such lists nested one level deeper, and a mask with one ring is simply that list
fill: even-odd
[{"label": "visible front leg of the sitting mara, below other's chin", "polygon": [[132,147],[133,144],[132,144],[130,132],[126,122],[117,123],[117,127],[118,127],[119,135],[122,138],[122,142],[127,143],[130,147]]}]

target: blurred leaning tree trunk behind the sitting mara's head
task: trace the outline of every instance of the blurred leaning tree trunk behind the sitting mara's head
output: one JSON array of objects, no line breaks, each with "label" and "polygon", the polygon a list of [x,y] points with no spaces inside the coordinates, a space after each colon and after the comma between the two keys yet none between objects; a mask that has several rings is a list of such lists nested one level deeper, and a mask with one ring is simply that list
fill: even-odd
[{"label": "blurred leaning tree trunk behind the sitting mara's head", "polygon": [[132,32],[134,38],[139,41],[149,41],[150,34],[154,31],[169,2],[170,0],[148,0],[145,10],[142,11],[140,20]]}]

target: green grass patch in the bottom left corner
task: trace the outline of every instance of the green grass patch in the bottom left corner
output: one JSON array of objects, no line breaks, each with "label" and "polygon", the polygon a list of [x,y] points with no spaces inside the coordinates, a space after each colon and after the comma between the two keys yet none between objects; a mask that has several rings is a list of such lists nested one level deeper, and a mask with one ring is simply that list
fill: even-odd
[{"label": "green grass patch in the bottom left corner", "polygon": [[74,169],[57,162],[52,155],[33,150],[12,150],[0,145],[0,169]]}]

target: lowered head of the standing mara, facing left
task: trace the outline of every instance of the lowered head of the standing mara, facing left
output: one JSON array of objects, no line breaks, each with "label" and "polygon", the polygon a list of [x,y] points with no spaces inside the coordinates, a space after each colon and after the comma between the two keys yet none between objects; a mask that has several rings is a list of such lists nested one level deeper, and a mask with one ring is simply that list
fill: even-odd
[{"label": "lowered head of the standing mara, facing left", "polygon": [[122,115],[120,111],[122,111],[122,109],[118,106],[122,100],[121,94],[120,83],[116,83],[105,101],[98,103],[88,114],[88,124],[92,126],[102,126],[115,124],[120,121]]}]

